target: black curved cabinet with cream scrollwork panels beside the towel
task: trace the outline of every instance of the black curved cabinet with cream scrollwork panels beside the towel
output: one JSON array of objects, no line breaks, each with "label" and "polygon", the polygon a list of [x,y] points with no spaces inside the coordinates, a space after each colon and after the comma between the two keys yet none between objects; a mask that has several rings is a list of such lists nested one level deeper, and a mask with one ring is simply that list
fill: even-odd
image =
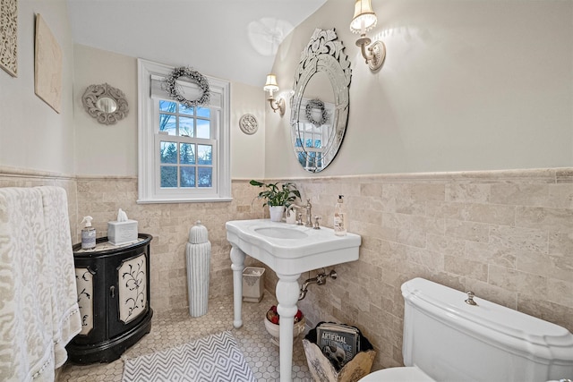
[{"label": "black curved cabinet with cream scrollwork panels beside the towel", "polygon": [[113,245],[107,237],[93,250],[73,246],[81,332],[66,346],[68,359],[88,364],[117,360],[150,333],[150,242]]}]

